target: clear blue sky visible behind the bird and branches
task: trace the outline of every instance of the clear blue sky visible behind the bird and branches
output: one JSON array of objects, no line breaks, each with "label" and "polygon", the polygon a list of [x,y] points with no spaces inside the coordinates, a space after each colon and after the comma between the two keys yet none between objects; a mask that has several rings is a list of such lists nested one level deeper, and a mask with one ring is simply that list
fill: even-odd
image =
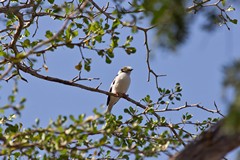
[{"label": "clear blue sky visible behind the bird and branches", "polygon": [[[239,19],[239,10],[233,17]],[[169,53],[156,47],[154,33],[150,34],[150,45],[152,47],[151,65],[159,74],[167,74],[159,80],[159,85],[164,88],[173,88],[175,83],[181,83],[183,87],[182,101],[176,106],[184,105],[185,102],[201,103],[207,108],[214,109],[214,101],[218,104],[223,113],[227,113],[227,103],[222,98],[222,80],[223,66],[239,58],[240,51],[240,30],[238,25],[230,25],[228,31],[225,26],[219,27],[212,33],[201,30],[199,24],[204,19],[198,17],[191,28],[191,33],[186,43],[179,47],[175,53]],[[44,26],[50,27],[47,21],[43,21]],[[60,28],[59,24],[51,24],[51,27]],[[123,29],[121,32],[127,30]],[[130,33],[130,32],[129,32]],[[145,63],[146,51],[144,48],[144,39],[141,32],[134,37],[133,46],[137,48],[134,55],[126,55],[123,50],[115,51],[115,58],[112,64],[106,64],[104,59],[95,56],[93,53],[85,52],[86,57],[93,57],[93,65],[90,73],[83,72],[83,77],[98,77],[100,80],[79,82],[92,87],[97,87],[100,83],[100,89],[108,90],[109,86],[117,74],[118,70],[125,65],[133,67],[132,83],[128,94],[135,100],[140,100],[149,94],[153,99],[157,99],[157,92],[154,86],[154,79],[147,82],[147,66]],[[59,77],[71,80],[78,75],[74,66],[80,61],[78,48],[68,49],[63,47],[57,51],[46,54],[48,72],[43,71],[45,75]],[[105,105],[106,96],[99,93],[92,93],[79,88],[64,86],[37,79],[35,77],[23,74],[28,83],[19,81],[19,97],[26,97],[26,108],[19,119],[25,127],[34,124],[36,118],[40,118],[41,125],[46,126],[50,119],[56,119],[62,115],[79,115],[86,113],[91,115],[94,108]],[[11,90],[12,82],[3,85],[2,93],[8,95]],[[1,97],[4,99],[4,97]],[[0,103],[1,104],[1,103]],[[120,100],[113,108],[116,115],[122,114],[123,109],[133,105],[126,100]],[[105,109],[102,109],[103,111]],[[185,112],[185,111],[184,111]],[[187,112],[187,110],[186,110]],[[196,120],[212,116],[199,110],[188,110]],[[165,113],[164,115],[170,121],[178,121],[180,113]],[[229,155],[230,159],[234,157]]]}]

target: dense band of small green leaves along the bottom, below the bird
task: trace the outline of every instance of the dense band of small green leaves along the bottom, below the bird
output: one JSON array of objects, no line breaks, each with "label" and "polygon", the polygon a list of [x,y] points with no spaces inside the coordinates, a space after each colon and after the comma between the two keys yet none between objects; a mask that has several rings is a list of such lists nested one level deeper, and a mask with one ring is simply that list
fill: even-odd
[{"label": "dense band of small green leaves along the bottom, below the bird", "polygon": [[[23,124],[15,123],[15,114],[1,118],[1,155],[5,158],[18,159],[81,159],[81,158],[110,158],[117,155],[117,159],[136,159],[143,157],[157,157],[161,154],[171,155],[180,149],[190,139],[196,137],[199,131],[204,131],[218,119],[209,117],[202,122],[193,122],[193,115],[186,112],[181,122],[172,124],[165,117],[155,117],[154,113],[181,110],[188,107],[170,108],[180,96],[181,87],[177,84],[175,90],[161,90],[164,99],[153,104],[147,95],[142,99],[146,110],[130,107],[125,109],[125,116],[104,115],[94,110],[94,116],[78,117],[70,115],[59,116],[45,128],[39,126],[40,120],[31,128],[24,128]],[[20,102],[22,104],[22,101]],[[154,105],[167,105],[164,110],[157,110]],[[210,111],[210,110],[209,110]],[[195,132],[190,133],[185,128],[193,126]]]}]

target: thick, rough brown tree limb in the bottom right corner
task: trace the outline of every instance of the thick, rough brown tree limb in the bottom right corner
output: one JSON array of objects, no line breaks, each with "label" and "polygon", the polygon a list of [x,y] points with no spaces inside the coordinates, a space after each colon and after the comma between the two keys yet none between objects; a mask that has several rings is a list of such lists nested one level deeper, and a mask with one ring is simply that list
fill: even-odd
[{"label": "thick, rough brown tree limb in the bottom right corner", "polygon": [[232,133],[224,128],[224,120],[219,121],[170,160],[220,160],[240,146],[240,133]]}]

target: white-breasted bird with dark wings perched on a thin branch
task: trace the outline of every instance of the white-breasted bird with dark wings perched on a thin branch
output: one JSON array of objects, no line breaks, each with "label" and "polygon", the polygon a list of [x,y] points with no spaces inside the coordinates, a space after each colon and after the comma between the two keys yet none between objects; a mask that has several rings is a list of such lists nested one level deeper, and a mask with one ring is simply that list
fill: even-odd
[{"label": "white-breasted bird with dark wings perched on a thin branch", "polygon": [[[130,74],[132,70],[132,67],[125,66],[118,71],[118,75],[114,78],[109,92],[115,94],[125,94],[131,82]],[[118,102],[119,99],[119,97],[108,96],[107,113],[111,113],[112,107]]]}]

